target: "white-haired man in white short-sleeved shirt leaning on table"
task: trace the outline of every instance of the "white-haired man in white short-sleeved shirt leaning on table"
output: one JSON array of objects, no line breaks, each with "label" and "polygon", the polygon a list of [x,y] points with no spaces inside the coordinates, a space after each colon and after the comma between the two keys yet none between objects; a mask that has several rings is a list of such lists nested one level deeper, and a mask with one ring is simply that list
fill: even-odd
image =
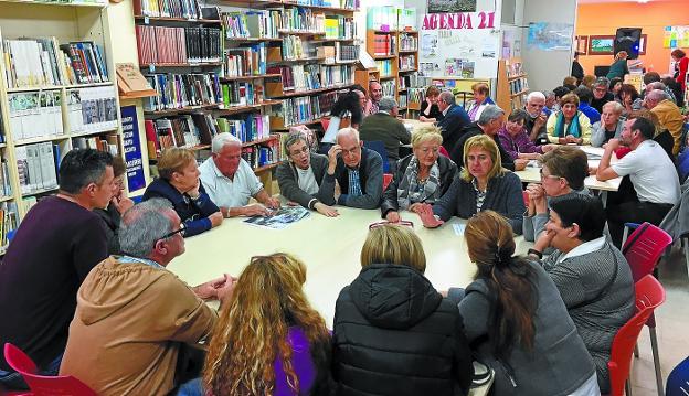
[{"label": "white-haired man in white short-sleeved shirt leaning on table", "polygon": [[[265,216],[279,208],[279,200],[268,195],[254,171],[242,159],[242,141],[224,132],[213,137],[212,156],[199,167],[205,192],[224,217]],[[250,197],[258,203],[248,204]]]}]

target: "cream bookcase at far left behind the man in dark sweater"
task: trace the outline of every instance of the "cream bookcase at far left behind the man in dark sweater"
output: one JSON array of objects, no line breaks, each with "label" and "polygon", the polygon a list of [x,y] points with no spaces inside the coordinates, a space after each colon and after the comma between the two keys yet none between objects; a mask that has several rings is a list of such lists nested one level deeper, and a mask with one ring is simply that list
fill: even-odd
[{"label": "cream bookcase at far left behind the man in dark sweater", "polygon": [[31,205],[57,191],[67,151],[123,153],[106,6],[0,1],[2,247]]}]

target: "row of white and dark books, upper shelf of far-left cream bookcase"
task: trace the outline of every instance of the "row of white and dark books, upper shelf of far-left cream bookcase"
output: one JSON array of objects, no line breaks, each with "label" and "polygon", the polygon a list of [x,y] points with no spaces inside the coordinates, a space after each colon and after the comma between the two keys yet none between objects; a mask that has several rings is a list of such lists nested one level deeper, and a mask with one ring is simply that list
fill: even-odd
[{"label": "row of white and dark books, upper shelf of far-left cream bookcase", "polygon": [[60,44],[54,36],[3,40],[2,61],[9,88],[108,81],[105,57],[93,42]]}]

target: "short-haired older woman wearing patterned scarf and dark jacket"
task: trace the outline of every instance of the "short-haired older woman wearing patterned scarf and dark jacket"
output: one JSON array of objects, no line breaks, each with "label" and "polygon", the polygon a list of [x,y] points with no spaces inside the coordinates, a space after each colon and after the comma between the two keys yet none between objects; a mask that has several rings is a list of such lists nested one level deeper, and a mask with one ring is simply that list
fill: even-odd
[{"label": "short-haired older woman wearing patterned scarf and dark jacket", "polygon": [[392,182],[383,193],[383,218],[396,223],[400,210],[417,212],[421,203],[434,204],[447,192],[457,174],[457,165],[438,154],[441,145],[439,128],[423,125],[414,130],[413,153],[400,160]]}]

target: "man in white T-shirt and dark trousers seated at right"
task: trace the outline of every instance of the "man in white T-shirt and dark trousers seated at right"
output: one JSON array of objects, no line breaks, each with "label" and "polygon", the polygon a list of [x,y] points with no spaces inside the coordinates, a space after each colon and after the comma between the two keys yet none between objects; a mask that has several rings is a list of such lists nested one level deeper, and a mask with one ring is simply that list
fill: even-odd
[{"label": "man in white T-shirt and dark trousers seated at right", "polygon": [[[622,196],[616,204],[610,204],[608,200],[607,225],[617,247],[622,245],[625,222],[658,225],[679,201],[677,171],[660,145],[653,140],[655,130],[653,122],[645,118],[626,121],[621,139],[607,142],[596,170],[601,181],[629,175],[636,191],[635,196]],[[611,164],[613,152],[621,145],[632,151]]]}]

